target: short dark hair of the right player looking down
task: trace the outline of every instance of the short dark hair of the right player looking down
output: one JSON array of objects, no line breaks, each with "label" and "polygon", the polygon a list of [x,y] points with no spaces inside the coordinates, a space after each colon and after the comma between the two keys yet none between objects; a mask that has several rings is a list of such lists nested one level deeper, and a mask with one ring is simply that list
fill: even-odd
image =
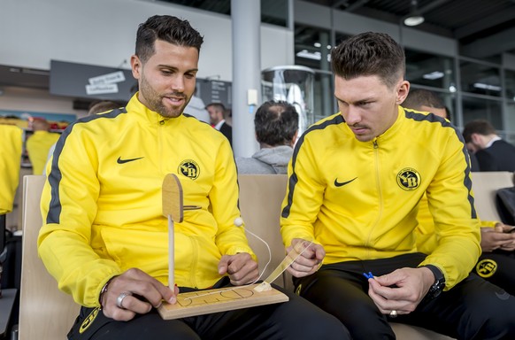
[{"label": "short dark hair of the right player looking down", "polygon": [[346,80],[377,75],[388,87],[404,77],[404,50],[391,36],[366,32],[341,42],[331,51],[335,75]]}]

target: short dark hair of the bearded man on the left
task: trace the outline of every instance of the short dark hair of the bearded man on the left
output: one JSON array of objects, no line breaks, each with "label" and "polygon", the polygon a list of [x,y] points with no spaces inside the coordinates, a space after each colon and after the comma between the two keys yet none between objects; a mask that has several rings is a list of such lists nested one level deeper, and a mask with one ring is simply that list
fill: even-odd
[{"label": "short dark hair of the bearded man on the left", "polygon": [[140,24],[136,34],[135,55],[144,63],[154,53],[154,42],[163,40],[178,46],[195,47],[200,52],[204,38],[188,20],[171,15],[154,15]]}]

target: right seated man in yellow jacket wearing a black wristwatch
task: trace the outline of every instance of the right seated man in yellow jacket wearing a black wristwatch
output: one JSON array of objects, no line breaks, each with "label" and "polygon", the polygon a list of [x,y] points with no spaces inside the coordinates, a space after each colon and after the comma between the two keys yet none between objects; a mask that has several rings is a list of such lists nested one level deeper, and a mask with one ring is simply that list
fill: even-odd
[{"label": "right seated man in yellow jacket wearing a black wristwatch", "polygon": [[[296,292],[350,330],[394,339],[388,321],[460,339],[515,338],[515,298],[475,274],[480,254],[470,165],[459,131],[400,106],[403,48],[367,32],[331,53],[340,112],[296,143],[281,233]],[[427,192],[440,243],[417,251],[417,206]],[[499,313],[503,311],[503,313]]]}]

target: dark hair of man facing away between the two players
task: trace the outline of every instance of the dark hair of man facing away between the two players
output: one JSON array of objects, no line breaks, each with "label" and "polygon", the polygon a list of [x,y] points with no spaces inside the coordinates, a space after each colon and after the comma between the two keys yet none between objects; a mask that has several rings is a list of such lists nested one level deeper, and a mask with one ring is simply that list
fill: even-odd
[{"label": "dark hair of man facing away between the two players", "polygon": [[259,143],[286,145],[291,143],[298,130],[298,113],[288,102],[270,100],[259,106],[254,126]]}]

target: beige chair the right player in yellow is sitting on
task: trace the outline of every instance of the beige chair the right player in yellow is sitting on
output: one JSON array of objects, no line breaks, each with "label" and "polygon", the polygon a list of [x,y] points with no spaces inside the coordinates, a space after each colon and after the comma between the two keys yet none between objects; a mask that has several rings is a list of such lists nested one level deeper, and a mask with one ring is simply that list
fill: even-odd
[{"label": "beige chair the right player in yellow is sitting on", "polygon": [[[281,203],[286,194],[288,177],[285,174],[240,174],[240,209],[246,228],[254,234],[265,239],[272,250],[272,262],[266,268],[265,278],[284,258],[279,220],[281,217]],[[265,245],[256,237],[247,235],[252,249],[259,259],[259,269],[263,270],[268,261],[268,251]],[[293,289],[291,276],[284,275],[274,283]],[[399,340],[445,340],[449,336],[442,336],[425,328],[419,328],[400,323],[391,323],[397,339]]]}]

